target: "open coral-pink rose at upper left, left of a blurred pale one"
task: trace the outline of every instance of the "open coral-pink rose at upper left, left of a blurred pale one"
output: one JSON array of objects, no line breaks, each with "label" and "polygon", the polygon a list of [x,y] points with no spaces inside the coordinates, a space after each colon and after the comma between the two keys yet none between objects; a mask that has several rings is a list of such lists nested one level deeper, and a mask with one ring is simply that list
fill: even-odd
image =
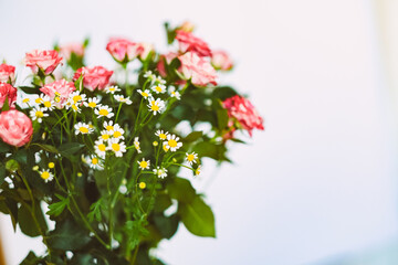
[{"label": "open coral-pink rose at upper left, left of a blurred pale one", "polygon": [[27,53],[24,63],[28,67],[31,67],[34,74],[38,74],[39,68],[44,74],[51,74],[62,61],[62,57],[54,50],[42,51],[34,50],[33,52]]}]

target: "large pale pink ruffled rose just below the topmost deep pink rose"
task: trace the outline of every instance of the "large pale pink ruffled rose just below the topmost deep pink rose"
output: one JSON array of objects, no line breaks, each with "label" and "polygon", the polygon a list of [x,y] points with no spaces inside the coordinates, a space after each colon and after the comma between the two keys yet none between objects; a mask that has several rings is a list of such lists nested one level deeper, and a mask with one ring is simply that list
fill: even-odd
[{"label": "large pale pink ruffled rose just below the topmost deep pink rose", "polygon": [[188,52],[178,56],[181,62],[179,71],[186,80],[197,86],[207,86],[208,84],[217,85],[216,70],[203,57],[199,57],[196,53]]}]

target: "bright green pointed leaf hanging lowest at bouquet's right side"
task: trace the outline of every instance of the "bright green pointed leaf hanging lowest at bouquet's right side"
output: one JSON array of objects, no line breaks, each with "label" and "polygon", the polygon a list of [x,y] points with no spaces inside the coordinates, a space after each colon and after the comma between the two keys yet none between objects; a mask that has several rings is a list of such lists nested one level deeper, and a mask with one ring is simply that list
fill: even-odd
[{"label": "bright green pointed leaf hanging lowest at bouquet's right side", "polygon": [[192,234],[216,237],[214,215],[199,195],[190,203],[179,203],[178,213],[184,225]]}]

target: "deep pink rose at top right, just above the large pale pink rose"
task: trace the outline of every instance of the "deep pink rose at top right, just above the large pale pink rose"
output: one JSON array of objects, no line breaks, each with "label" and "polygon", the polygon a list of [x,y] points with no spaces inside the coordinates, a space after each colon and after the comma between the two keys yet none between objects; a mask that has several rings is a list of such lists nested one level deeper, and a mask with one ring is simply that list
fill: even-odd
[{"label": "deep pink rose at top right, just above the large pale pink rose", "polygon": [[195,52],[199,56],[211,56],[211,51],[206,42],[195,36],[190,32],[178,30],[176,31],[176,40],[179,43],[179,50],[185,52]]}]

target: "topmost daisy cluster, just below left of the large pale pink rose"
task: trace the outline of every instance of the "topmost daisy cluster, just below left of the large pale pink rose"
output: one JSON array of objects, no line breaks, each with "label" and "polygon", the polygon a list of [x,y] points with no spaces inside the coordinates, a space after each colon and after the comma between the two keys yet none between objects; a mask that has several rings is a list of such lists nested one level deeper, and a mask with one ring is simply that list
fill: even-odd
[{"label": "topmost daisy cluster, just below left of the large pale pink rose", "polygon": [[151,73],[151,71],[148,71],[144,74],[144,77],[147,77],[146,83],[149,83],[150,88],[147,89],[146,84],[144,85],[143,89],[138,89],[137,92],[145,98],[148,100],[148,109],[149,112],[151,112],[154,115],[161,113],[165,107],[166,107],[166,103],[164,99],[161,99],[160,97],[155,98],[154,95],[157,96],[161,96],[166,93],[168,93],[168,96],[176,98],[176,99],[181,99],[181,95],[178,91],[176,91],[176,87],[170,86],[168,89],[166,87],[166,81],[163,80],[160,76],[156,76],[155,74]]}]

